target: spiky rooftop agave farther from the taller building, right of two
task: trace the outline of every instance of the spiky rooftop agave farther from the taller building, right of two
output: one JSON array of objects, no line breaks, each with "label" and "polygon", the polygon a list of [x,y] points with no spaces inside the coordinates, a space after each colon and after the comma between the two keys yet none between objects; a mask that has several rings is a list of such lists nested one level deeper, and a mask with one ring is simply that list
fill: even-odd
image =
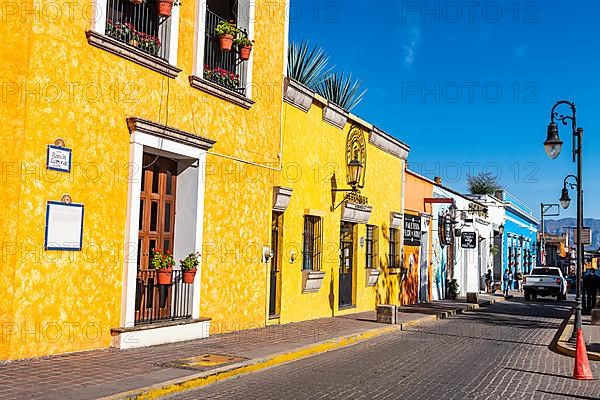
[{"label": "spiky rooftop agave farther from the taller building, right of two", "polygon": [[352,111],[363,99],[367,90],[361,91],[362,82],[343,72],[327,76],[317,86],[317,93],[347,111]]}]

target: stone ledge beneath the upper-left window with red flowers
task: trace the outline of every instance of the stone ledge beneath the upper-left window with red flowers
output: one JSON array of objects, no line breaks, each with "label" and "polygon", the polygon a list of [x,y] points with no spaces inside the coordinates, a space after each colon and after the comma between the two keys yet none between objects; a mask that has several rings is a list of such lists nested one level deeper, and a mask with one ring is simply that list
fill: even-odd
[{"label": "stone ledge beneath the upper-left window with red flowers", "polygon": [[176,78],[181,72],[181,69],[177,68],[176,66],[171,65],[160,58],[144,53],[143,51],[140,51],[109,36],[104,36],[94,31],[86,31],[85,34],[87,36],[88,43],[92,46],[106,50],[109,53],[123,57],[129,61],[133,61],[136,64],[166,75],[169,78]]}]

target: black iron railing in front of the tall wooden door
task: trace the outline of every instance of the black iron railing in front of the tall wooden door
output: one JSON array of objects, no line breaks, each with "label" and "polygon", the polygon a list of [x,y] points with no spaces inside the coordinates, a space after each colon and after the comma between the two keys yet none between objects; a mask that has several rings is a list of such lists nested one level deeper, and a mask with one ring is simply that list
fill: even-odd
[{"label": "black iron railing in front of the tall wooden door", "polygon": [[183,283],[182,271],[173,271],[172,274],[170,285],[159,285],[156,270],[138,271],[136,325],[192,317],[194,285]]}]

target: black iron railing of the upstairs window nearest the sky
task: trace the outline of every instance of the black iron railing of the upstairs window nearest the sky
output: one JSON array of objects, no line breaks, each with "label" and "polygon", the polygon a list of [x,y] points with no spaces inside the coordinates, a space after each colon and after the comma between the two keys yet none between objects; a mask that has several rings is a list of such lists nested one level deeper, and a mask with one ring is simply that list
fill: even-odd
[{"label": "black iron railing of the upstairs window nearest the sky", "polygon": [[204,79],[246,95],[247,63],[242,62],[235,49],[221,50],[215,28],[224,18],[206,9],[206,32],[204,41]]}]

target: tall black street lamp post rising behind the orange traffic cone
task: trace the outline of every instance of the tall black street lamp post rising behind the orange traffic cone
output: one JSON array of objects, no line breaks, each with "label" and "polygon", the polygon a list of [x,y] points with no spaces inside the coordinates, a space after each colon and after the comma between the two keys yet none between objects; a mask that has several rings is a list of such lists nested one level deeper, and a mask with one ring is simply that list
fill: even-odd
[{"label": "tall black street lamp post rising behind the orange traffic cone", "polygon": [[[561,105],[567,105],[571,108],[572,115],[559,114],[556,109]],[[546,154],[552,159],[558,157],[562,150],[563,141],[560,140],[558,135],[558,124],[556,121],[560,121],[563,125],[567,125],[571,121],[571,129],[573,135],[573,162],[577,161],[577,294],[575,297],[575,329],[573,329],[573,335],[571,340],[575,340],[577,332],[581,329],[581,273],[583,270],[583,244],[581,243],[581,233],[583,231],[583,188],[582,188],[582,140],[583,140],[583,128],[577,127],[577,111],[575,103],[567,100],[558,101],[552,111],[550,112],[550,124],[548,125],[548,135],[544,142],[544,149]],[[569,178],[569,177],[567,177]],[[569,192],[567,190],[567,179],[563,186],[562,196],[560,199],[561,205],[564,207],[569,206],[571,199],[569,198]]]}]

